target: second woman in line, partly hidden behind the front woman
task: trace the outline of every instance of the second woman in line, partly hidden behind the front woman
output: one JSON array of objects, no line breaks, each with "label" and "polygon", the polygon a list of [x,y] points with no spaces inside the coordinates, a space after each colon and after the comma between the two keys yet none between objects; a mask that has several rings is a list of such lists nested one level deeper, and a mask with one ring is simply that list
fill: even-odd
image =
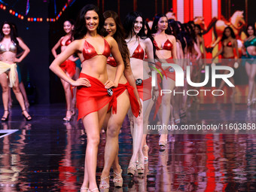
[{"label": "second woman in line, partly hidden behind the front woman", "polygon": [[[99,188],[109,189],[109,172],[112,165],[114,170],[114,187],[123,186],[122,169],[120,169],[118,162],[118,135],[130,106],[133,115],[138,117],[141,104],[133,72],[130,67],[129,50],[126,41],[123,38],[125,33],[123,26],[120,23],[120,19],[114,11],[105,11],[103,17],[105,19],[104,28],[108,32],[108,35],[117,41],[125,66],[118,87],[113,89],[117,96],[117,114],[111,114],[111,111],[108,111],[103,124],[107,130],[107,137],[105,144],[104,168],[102,170]],[[113,56],[108,56],[107,64],[108,78],[114,81],[114,76],[117,72],[117,62],[115,62]]]}]

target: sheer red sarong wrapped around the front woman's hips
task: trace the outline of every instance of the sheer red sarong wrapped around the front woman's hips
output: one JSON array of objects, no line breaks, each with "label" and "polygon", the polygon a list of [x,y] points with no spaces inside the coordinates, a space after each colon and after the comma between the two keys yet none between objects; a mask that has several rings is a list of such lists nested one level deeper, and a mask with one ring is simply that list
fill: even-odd
[{"label": "sheer red sarong wrapped around the front woman's hips", "polygon": [[101,81],[84,73],[81,73],[79,78],[87,78],[90,81],[91,87],[78,87],[78,120],[87,114],[99,111],[108,103],[111,103],[111,105],[108,105],[108,109],[112,107],[113,113],[117,112],[116,96],[114,96],[114,93],[113,96],[109,96],[108,90],[105,89],[105,85]]}]

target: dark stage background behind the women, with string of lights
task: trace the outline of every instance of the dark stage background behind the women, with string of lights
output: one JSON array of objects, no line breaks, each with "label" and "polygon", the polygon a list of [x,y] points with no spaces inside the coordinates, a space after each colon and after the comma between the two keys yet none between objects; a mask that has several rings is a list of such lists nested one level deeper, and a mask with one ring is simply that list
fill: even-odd
[{"label": "dark stage background behind the women, with string of lights", "polygon": [[[59,20],[56,22],[47,22],[46,18],[55,18],[66,2],[68,1],[30,0],[29,14],[25,16],[27,0],[0,0],[0,3],[7,8],[5,11],[0,9],[1,23],[4,20],[9,20],[15,23],[20,37],[23,38],[23,41],[25,41],[31,50],[29,55],[22,63],[20,63],[20,65],[23,82],[26,84],[28,77],[30,77],[30,82],[35,87],[35,102],[39,104],[65,102],[64,91],[62,90],[59,78],[48,69],[50,62],[53,61],[53,56],[50,50],[59,38],[62,35],[65,35],[62,29],[63,22],[66,19],[75,20],[78,11],[80,11],[84,5],[93,3],[99,5],[99,8],[102,11],[116,11],[120,14],[121,20],[124,19],[127,13],[134,10],[142,12],[145,18],[151,20],[152,17],[154,17],[154,14],[162,12],[166,13],[172,9],[171,0],[70,0],[68,8],[63,12],[62,16],[59,17]],[[120,6],[118,6],[118,2]],[[256,7],[256,1],[248,0],[247,2],[248,17],[245,16],[245,19],[248,20],[248,23],[254,23],[254,8]],[[24,20],[20,20],[9,14],[10,9],[17,11],[19,14],[23,14],[25,16]],[[221,0],[221,12],[227,19],[237,10],[245,10],[245,1]],[[28,22],[27,17],[42,17],[44,21]]]}]

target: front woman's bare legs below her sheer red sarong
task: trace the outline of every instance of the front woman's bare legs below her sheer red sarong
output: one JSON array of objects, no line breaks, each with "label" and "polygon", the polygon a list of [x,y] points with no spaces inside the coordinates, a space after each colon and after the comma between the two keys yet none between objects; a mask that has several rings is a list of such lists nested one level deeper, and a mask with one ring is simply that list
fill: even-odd
[{"label": "front woman's bare legs below her sheer red sarong", "polygon": [[[105,105],[99,111],[87,114],[82,120],[85,131],[87,133],[87,148],[84,162],[84,182],[82,187],[87,187],[92,190],[97,187],[96,184],[96,166],[98,145],[100,139],[100,130],[102,128],[105,114],[107,113],[108,105]],[[87,173],[86,173],[87,171]]]}]

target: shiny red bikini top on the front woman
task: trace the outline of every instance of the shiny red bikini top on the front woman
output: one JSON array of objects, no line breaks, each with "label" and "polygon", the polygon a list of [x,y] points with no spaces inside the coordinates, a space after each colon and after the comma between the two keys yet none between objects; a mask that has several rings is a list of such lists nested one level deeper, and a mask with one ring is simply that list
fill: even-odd
[{"label": "shiny red bikini top on the front woman", "polygon": [[104,55],[107,58],[108,58],[108,56],[110,56],[110,47],[109,47],[108,41],[106,41],[105,38],[103,38],[103,39],[104,39],[104,51],[101,54],[97,53],[95,48],[93,47],[93,45],[91,45],[89,42],[87,42],[87,40],[84,41],[84,49],[83,49],[84,60],[83,60],[83,62],[85,60],[91,59],[97,55]]}]

